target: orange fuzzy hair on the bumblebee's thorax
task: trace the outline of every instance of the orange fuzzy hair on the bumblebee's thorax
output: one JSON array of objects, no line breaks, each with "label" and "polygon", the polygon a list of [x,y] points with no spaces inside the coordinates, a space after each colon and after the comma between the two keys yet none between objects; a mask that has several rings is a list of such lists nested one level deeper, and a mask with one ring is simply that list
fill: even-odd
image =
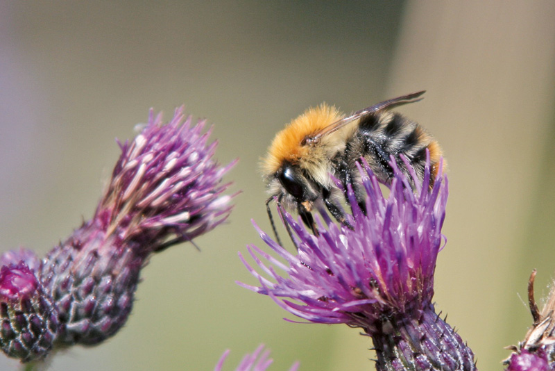
[{"label": "orange fuzzy hair on the bumblebee's thorax", "polygon": [[272,174],[280,169],[284,162],[297,165],[302,158],[307,158],[311,148],[302,146],[301,142],[309,135],[336,122],[343,117],[334,106],[321,104],[316,108],[309,108],[293,119],[280,131],[268,147],[268,154],[264,158],[264,172]]}]

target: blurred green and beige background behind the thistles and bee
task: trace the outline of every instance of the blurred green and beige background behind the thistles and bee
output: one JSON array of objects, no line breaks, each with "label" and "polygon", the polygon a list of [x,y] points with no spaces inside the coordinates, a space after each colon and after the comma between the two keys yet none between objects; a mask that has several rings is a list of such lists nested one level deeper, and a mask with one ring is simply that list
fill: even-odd
[{"label": "blurred green and beige background behind the thistles and bee", "polygon": [[[144,269],[126,327],[58,354],[51,370],[234,369],[259,343],[271,370],[371,370],[345,326],[291,324],[237,258],[269,229],[258,170],[273,135],[308,106],[346,112],[416,90],[401,110],[450,165],[436,306],[499,370],[555,268],[555,3],[545,1],[21,1],[0,3],[0,249],[44,255],[92,216],[148,108],[185,104],[214,124],[242,190],[228,224]],[[0,369],[17,362],[0,356]]]}]

